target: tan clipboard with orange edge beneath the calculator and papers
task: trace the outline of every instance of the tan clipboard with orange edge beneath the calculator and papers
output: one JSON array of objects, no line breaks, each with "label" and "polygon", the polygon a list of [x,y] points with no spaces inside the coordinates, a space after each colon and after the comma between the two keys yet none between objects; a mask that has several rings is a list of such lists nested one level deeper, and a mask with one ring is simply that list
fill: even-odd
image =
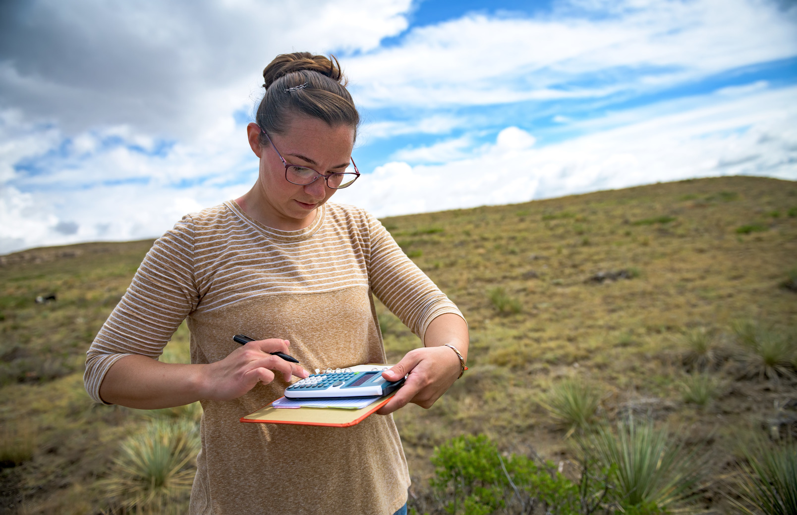
[{"label": "tan clipboard with orange edge beneath the calculator and papers", "polygon": [[254,423],[292,423],[304,426],[326,426],[326,427],[351,427],[362,422],[367,416],[382,408],[395,396],[396,392],[391,392],[387,396],[379,397],[365,408],[341,409],[341,408],[274,408],[271,404],[241,417],[241,422]]}]

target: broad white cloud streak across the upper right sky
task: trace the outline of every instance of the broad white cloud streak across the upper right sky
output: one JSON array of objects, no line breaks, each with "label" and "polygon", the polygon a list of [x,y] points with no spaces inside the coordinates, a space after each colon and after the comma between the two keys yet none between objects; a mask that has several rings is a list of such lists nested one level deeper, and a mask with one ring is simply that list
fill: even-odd
[{"label": "broad white cloud streak across the upper right sky", "polygon": [[[606,16],[614,5],[614,16]],[[797,54],[797,9],[759,0],[598,2],[603,17],[471,15],[347,60],[366,106],[488,105],[647,92]],[[584,6],[581,6],[583,9]],[[609,10],[612,12],[612,10]]]}]

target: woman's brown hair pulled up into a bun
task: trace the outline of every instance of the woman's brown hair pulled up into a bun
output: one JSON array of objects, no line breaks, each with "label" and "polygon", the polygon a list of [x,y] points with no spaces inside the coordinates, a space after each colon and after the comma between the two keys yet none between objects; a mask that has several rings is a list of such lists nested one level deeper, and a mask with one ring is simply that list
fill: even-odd
[{"label": "woman's brown hair pulled up into a bun", "polygon": [[[331,127],[352,127],[356,137],[359,113],[335,56],[328,59],[309,52],[283,53],[265,67],[263,80],[265,95],[255,119],[263,131],[285,134],[289,116],[301,114],[322,119]],[[268,145],[264,134],[260,142]]]}]

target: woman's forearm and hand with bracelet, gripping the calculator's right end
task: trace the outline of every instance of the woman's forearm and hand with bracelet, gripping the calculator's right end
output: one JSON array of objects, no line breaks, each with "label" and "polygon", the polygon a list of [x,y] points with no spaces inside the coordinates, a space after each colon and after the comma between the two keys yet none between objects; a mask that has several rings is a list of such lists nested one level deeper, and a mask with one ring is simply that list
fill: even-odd
[{"label": "woman's forearm and hand with bracelet, gripping the calculator's right end", "polygon": [[395,366],[382,373],[391,381],[406,374],[409,376],[395,396],[379,408],[379,415],[395,412],[410,402],[429,409],[459,377],[459,357],[445,344],[457,347],[467,359],[468,326],[465,321],[456,314],[442,314],[429,324],[424,340],[426,347],[410,350]]}]

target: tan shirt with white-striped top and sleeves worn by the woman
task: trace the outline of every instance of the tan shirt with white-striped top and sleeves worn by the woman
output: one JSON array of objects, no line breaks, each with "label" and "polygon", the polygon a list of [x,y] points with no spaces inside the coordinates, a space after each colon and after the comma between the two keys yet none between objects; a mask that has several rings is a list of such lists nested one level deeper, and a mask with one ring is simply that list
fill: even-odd
[{"label": "tan shirt with white-striped top and sleeves worn by the woman", "polygon": [[[360,209],[324,205],[308,228],[280,231],[228,201],[155,241],[88,350],[86,389],[103,402],[111,365],[129,354],[157,359],[185,318],[193,363],[226,357],[238,347],[234,334],[290,340],[305,369],[381,363],[371,294],[421,338],[438,315],[460,314]],[[393,513],[403,505],[409,474],[392,416],[345,428],[238,422],[286,386],[277,375],[236,400],[202,401],[190,513]]]}]

